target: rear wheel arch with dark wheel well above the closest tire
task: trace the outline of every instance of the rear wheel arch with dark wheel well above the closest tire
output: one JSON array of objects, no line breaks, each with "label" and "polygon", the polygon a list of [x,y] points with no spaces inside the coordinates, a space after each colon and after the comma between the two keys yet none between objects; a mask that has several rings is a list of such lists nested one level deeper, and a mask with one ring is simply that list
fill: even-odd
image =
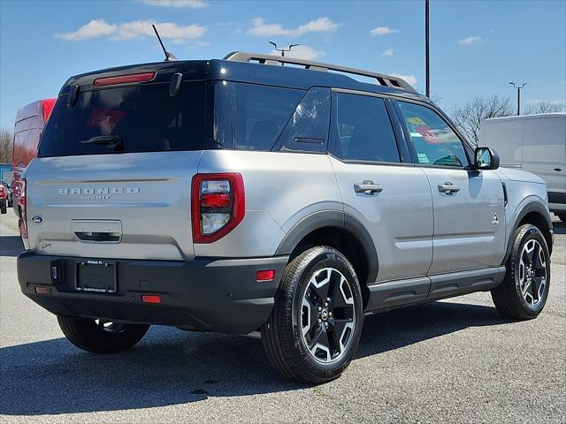
[{"label": "rear wheel arch with dark wheel well above the closest tire", "polygon": [[369,299],[367,286],[377,280],[379,261],[371,235],[363,223],[338,210],[315,212],[287,232],[276,254],[288,254],[292,261],[312,246],[331,246],[348,258],[359,278],[365,307]]}]

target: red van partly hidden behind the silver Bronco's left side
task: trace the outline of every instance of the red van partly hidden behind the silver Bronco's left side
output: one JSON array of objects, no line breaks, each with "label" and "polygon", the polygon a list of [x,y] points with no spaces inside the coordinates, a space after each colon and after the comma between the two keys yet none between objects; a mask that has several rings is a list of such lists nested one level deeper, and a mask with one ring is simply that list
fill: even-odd
[{"label": "red van partly hidden behind the silver Bronco's left side", "polygon": [[14,124],[14,143],[11,156],[11,165],[14,178],[11,182],[13,190],[12,205],[17,216],[20,214],[18,204],[21,192],[21,173],[26,169],[27,163],[37,155],[39,140],[43,127],[50,117],[51,110],[57,99],[38,100],[27,104],[18,110]]}]

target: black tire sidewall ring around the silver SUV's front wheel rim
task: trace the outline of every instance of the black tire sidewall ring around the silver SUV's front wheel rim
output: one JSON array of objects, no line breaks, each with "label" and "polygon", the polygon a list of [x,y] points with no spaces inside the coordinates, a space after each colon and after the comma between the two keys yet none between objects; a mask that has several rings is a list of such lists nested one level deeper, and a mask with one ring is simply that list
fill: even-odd
[{"label": "black tire sidewall ring around the silver SUV's front wheel rim", "polygon": [[[534,225],[529,225],[524,231],[520,231],[518,236],[521,238],[521,241],[517,245],[518,247],[514,254],[514,258],[513,258],[514,260],[512,264],[512,266],[514,267],[513,283],[515,286],[516,297],[517,299],[519,299],[520,305],[523,308],[525,314],[528,314],[530,316],[536,316],[545,307],[545,304],[547,303],[547,299],[548,299],[548,292],[550,290],[550,255],[548,254],[547,240],[543,237],[539,229]],[[543,293],[542,299],[540,299],[539,302],[534,306],[530,306],[527,303],[527,301],[524,299],[523,293],[521,292],[521,284],[519,279],[520,276],[519,267],[520,267],[521,255],[523,254],[524,245],[526,245],[532,239],[537,240],[539,242],[539,245],[542,246],[546,258],[546,269],[547,269],[547,282],[545,286],[545,291]]]}]

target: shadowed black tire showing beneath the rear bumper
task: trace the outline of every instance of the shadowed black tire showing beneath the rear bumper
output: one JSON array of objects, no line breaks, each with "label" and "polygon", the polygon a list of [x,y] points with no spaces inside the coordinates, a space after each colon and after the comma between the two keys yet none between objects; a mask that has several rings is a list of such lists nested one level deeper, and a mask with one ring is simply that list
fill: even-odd
[{"label": "shadowed black tire showing beneath the rear bumper", "polygon": [[95,353],[116,353],[128,350],[145,335],[149,325],[120,324],[57,316],[65,337],[79,349]]}]

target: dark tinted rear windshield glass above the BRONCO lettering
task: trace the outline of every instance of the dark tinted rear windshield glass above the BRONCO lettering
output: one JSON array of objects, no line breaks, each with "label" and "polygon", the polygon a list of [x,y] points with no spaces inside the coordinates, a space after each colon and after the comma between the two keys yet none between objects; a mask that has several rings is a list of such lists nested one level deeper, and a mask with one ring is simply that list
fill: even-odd
[{"label": "dark tinted rear windshield glass above the BRONCO lettering", "polygon": [[[43,131],[39,155],[201,150],[204,110],[203,82],[183,82],[177,97],[169,95],[168,83],[87,91],[73,107],[63,95]],[[119,138],[105,142],[112,136]]]}]

